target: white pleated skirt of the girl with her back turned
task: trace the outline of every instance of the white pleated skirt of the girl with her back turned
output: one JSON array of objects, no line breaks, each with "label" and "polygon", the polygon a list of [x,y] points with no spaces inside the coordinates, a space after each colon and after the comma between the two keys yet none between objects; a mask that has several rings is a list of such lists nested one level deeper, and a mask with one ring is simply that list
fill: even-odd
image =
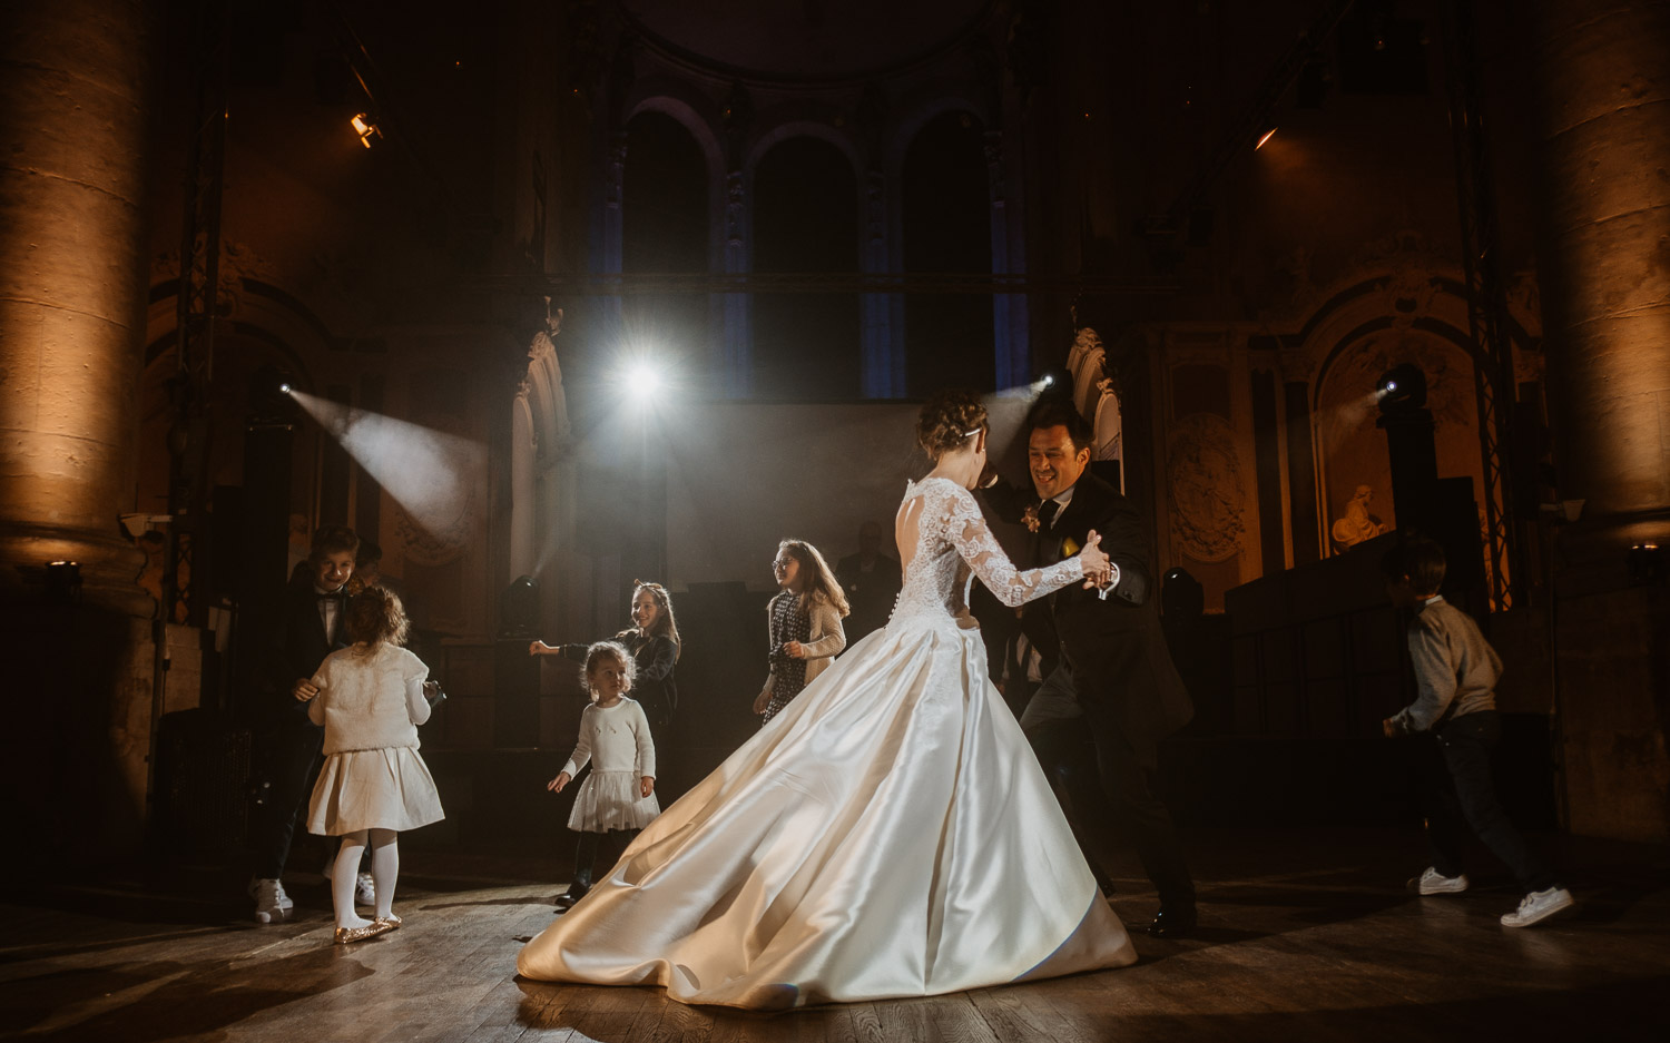
[{"label": "white pleated skirt of the girl with her back turned", "polygon": [[361,829],[416,829],[446,818],[434,776],[418,751],[349,749],[332,753],[307,804],[307,831],[342,836]]}]

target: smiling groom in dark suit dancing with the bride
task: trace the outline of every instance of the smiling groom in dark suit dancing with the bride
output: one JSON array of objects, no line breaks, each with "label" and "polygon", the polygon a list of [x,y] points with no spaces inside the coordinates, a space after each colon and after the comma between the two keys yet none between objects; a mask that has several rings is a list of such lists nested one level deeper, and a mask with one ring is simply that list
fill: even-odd
[{"label": "smiling groom in dark suit dancing with the bride", "polygon": [[[987,502],[1004,521],[1025,522],[1034,566],[1075,554],[1094,529],[1114,577],[1101,591],[1069,584],[1049,596],[1062,663],[1027,703],[1020,726],[1052,773],[1062,736],[1087,726],[1114,824],[1159,891],[1149,933],[1179,938],[1196,926],[1194,881],[1171,813],[1154,793],[1156,746],[1194,711],[1154,611],[1142,521],[1117,489],[1089,472],[1091,426],[1069,399],[1040,397],[1025,431],[1037,499],[995,479],[987,484]],[[1079,824],[1094,829],[1097,823]]]}]

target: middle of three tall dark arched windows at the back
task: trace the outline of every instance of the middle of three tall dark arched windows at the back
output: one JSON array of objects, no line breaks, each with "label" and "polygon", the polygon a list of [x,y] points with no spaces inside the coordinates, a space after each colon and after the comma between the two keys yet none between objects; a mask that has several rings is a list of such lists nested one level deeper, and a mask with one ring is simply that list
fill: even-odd
[{"label": "middle of three tall dark arched windows at the back", "polygon": [[[858,270],[858,180],[828,142],[792,137],[753,175],[753,270]],[[857,294],[755,294],[755,394],[858,397]]]}]

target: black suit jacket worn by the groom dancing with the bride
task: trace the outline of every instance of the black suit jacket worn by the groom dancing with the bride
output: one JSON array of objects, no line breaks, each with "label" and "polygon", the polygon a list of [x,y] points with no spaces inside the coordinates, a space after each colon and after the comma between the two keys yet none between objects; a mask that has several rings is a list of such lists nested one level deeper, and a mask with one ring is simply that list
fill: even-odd
[{"label": "black suit jacket worn by the groom dancing with the bride", "polygon": [[[1030,489],[999,481],[987,502],[1005,521],[1019,521],[1037,504]],[[1055,631],[1080,703],[1111,709],[1112,721],[1136,748],[1149,748],[1194,716],[1189,693],[1166,647],[1156,611],[1154,572],[1142,519],[1117,489],[1086,471],[1052,527],[1032,536],[1032,564],[1047,566],[1077,554],[1091,531],[1119,566],[1119,582],[1106,599],[1074,582],[1049,596]]]}]

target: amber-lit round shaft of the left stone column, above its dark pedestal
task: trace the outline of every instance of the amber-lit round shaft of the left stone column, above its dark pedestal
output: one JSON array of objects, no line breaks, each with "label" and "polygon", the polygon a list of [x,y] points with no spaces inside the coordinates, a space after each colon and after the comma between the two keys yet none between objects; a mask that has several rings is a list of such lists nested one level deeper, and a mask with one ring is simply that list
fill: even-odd
[{"label": "amber-lit round shaft of the left stone column, above its dark pedestal", "polygon": [[0,589],[30,597],[37,566],[73,559],[85,601],[144,616],[117,514],[144,349],[147,30],[140,0],[10,5],[0,30]]}]

